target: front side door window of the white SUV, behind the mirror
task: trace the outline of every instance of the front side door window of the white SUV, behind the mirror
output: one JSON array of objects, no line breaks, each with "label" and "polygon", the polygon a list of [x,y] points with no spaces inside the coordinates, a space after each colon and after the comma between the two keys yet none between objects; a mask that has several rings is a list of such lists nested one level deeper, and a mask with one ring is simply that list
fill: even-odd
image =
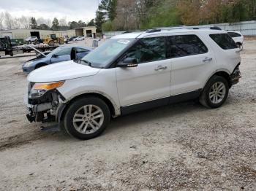
[{"label": "front side door window of the white SUV, behind the mirror", "polygon": [[126,58],[136,58],[138,63],[165,59],[165,37],[140,39],[139,42],[127,51]]}]

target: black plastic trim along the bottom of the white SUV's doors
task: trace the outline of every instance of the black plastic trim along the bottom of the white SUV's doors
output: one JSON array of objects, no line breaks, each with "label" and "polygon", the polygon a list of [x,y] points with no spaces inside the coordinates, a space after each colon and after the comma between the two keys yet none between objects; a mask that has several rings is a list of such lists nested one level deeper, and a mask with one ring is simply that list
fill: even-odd
[{"label": "black plastic trim along the bottom of the white SUV's doors", "polygon": [[182,101],[189,101],[195,98],[198,98],[199,95],[201,93],[201,89],[200,90],[195,90],[189,93],[182,93],[179,95],[173,95],[170,97],[166,97],[166,98],[159,98],[157,100],[153,100],[153,101],[146,101],[140,104],[134,104],[131,106],[123,106],[121,107],[121,114],[125,115],[125,114],[130,114],[130,113],[134,113],[134,112],[140,112],[146,109],[152,109],[155,107],[159,107],[159,106],[165,106],[168,104],[175,104],[175,103],[179,103]]}]

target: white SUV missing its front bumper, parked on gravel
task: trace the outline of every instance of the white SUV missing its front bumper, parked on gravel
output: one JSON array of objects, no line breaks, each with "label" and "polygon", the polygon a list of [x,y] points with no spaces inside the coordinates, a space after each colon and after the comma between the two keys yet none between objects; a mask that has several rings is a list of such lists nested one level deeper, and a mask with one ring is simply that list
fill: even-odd
[{"label": "white SUV missing its front bumper, parked on gravel", "polygon": [[158,28],[114,36],[80,61],[29,74],[30,122],[59,122],[78,139],[99,136],[111,117],[200,99],[221,106],[240,77],[226,31]]}]

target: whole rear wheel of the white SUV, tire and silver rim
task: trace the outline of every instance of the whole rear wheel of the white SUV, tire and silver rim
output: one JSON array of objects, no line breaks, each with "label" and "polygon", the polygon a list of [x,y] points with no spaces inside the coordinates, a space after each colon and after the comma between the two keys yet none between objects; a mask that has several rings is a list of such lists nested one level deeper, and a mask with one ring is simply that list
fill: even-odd
[{"label": "whole rear wheel of the white SUV, tire and silver rim", "polygon": [[227,79],[220,76],[211,77],[200,95],[200,104],[209,108],[222,106],[227,99],[228,90]]}]

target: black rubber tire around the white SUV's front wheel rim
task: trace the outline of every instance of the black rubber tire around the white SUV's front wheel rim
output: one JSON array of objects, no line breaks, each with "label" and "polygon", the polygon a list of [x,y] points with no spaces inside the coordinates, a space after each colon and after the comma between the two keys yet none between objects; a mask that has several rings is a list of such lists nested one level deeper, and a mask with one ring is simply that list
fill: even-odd
[{"label": "black rubber tire around the white SUV's front wheel rim", "polygon": [[[99,129],[94,131],[94,133],[85,134],[85,133],[80,133],[75,128],[73,124],[73,118],[75,116],[75,113],[78,112],[81,107],[88,106],[88,105],[94,105],[99,107],[99,109],[102,110],[104,117],[102,120],[103,121],[102,125],[100,125]],[[92,96],[80,98],[72,102],[69,105],[67,112],[64,114],[64,128],[65,130],[67,130],[67,133],[69,133],[69,135],[71,136],[74,136],[75,138],[82,139],[82,140],[93,139],[94,137],[99,136],[108,126],[109,122],[110,122],[110,109],[108,108],[108,105],[105,104],[105,101],[102,101],[102,99],[97,97],[92,97]]]}]

